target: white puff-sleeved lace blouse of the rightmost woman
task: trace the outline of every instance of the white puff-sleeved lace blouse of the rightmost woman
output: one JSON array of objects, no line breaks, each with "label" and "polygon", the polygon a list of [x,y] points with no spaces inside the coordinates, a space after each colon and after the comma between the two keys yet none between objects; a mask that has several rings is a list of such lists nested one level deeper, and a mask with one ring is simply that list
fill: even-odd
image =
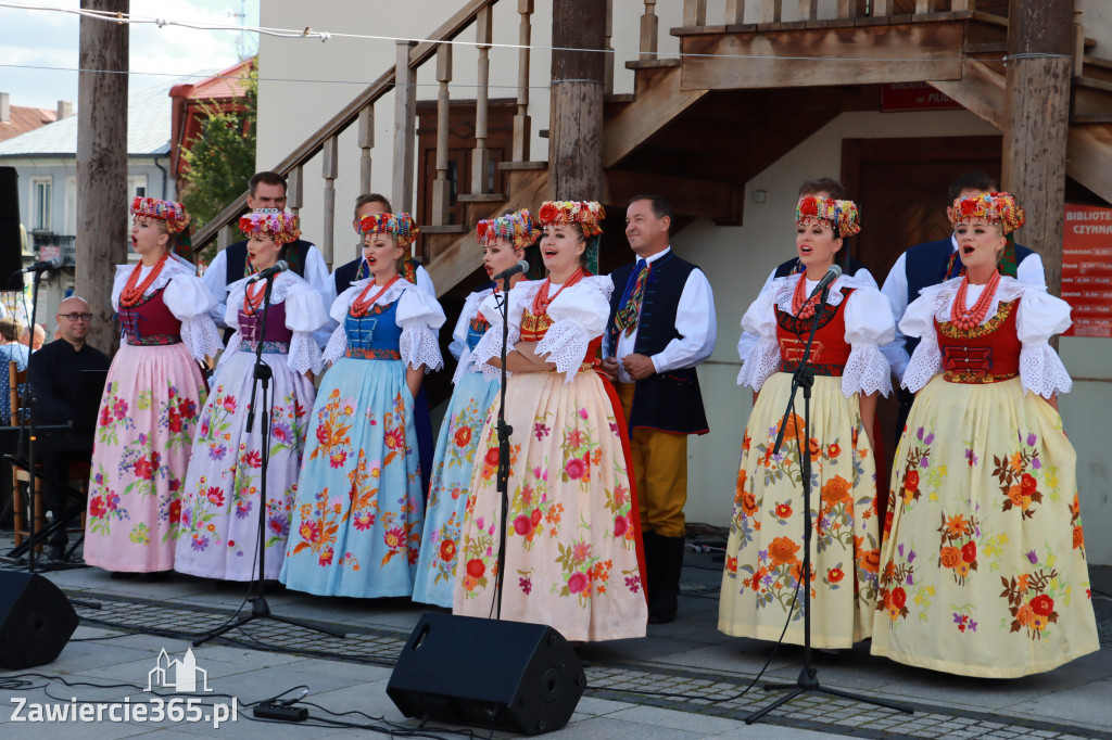
[{"label": "white puff-sleeved lace blouse of the rightmost woman", "polygon": [[[919,337],[920,343],[907,363],[902,384],[910,391],[917,391],[942,372],[942,351],[934,320],[949,321],[950,312],[957,296],[962,279],[954,278],[920,291],[904,318],[900,331],[909,337]],[[965,292],[965,308],[971,308],[981,298],[984,286],[970,286]],[[1046,292],[1046,288],[1020,282],[1014,278],[1002,278],[996,294],[981,323],[996,316],[1001,301],[1021,298],[1015,313],[1015,330],[1020,340],[1020,382],[1023,390],[1033,391],[1043,398],[1054,393],[1066,393],[1073,387],[1070,373],[1049,343],[1050,338],[1070,328],[1070,304]]]}]

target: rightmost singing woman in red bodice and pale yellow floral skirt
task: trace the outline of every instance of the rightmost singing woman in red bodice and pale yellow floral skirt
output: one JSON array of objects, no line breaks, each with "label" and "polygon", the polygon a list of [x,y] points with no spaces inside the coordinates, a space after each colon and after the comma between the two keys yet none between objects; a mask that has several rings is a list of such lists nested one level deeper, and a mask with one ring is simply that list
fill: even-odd
[{"label": "rightmost singing woman in red bodice and pale yellow floral skirt", "polygon": [[[934,670],[1015,678],[1100,648],[1075,478],[1048,341],[1070,307],[1015,280],[1007,193],[960,198],[965,274],[924,289],[896,449],[872,651]],[[1009,274],[1002,274],[1009,273]]]}]

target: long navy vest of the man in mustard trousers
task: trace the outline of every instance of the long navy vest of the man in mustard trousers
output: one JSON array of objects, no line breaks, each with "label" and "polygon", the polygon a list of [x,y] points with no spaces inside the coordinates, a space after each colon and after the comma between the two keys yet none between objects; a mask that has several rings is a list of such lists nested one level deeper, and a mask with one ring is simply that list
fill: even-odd
[{"label": "long navy vest of the man in mustard trousers", "polygon": [[[610,274],[614,292],[610,294],[610,318],[606,323],[606,333],[609,347],[615,352],[618,332],[614,317],[622,308],[622,296],[636,267],[636,262],[631,262]],[[652,357],[664,351],[673,339],[679,338],[679,332],[676,331],[679,297],[687,283],[687,276],[696,269],[696,266],[671,251],[652,262],[641,306],[641,319],[637,322],[634,352]],[[668,370],[638,380],[635,383],[633,410],[626,421],[629,429],[659,429],[679,434],[705,434],[709,431],[695,368]]]}]

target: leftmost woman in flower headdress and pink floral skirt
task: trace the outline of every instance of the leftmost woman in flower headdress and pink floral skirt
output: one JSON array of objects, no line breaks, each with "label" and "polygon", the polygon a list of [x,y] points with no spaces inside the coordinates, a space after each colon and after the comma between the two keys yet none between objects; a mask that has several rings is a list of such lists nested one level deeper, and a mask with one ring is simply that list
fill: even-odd
[{"label": "leftmost woman in flower headdress and pink floral skirt", "polygon": [[216,299],[193,266],[172,254],[189,224],[185,206],[131,202],[131,248],[112,283],[122,341],[108,371],[92,451],[85,561],[119,572],[173,568],[181,484],[205,378],[197,362],[220,350],[208,312]]}]

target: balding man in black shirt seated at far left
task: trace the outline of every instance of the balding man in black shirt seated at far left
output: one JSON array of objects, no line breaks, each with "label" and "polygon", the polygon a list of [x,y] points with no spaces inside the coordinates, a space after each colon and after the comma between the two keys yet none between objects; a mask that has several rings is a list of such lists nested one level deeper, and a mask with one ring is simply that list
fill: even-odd
[{"label": "balding man in black shirt seated at far left", "polygon": [[[62,338],[44,344],[31,354],[27,378],[36,397],[37,424],[63,424],[72,421],[78,402],[78,378],[82,370],[107,370],[108,356],[86,343],[92,313],[83,298],[70,296],[58,306],[58,327]],[[85,502],[67,500],[66,483],[69,463],[82,457],[75,452],[48,452],[43,467],[49,478],[58,482],[46,486],[46,508],[58,521],[63,511],[83,507]],[[50,539],[50,556],[61,559],[66,550],[64,530]]]}]

